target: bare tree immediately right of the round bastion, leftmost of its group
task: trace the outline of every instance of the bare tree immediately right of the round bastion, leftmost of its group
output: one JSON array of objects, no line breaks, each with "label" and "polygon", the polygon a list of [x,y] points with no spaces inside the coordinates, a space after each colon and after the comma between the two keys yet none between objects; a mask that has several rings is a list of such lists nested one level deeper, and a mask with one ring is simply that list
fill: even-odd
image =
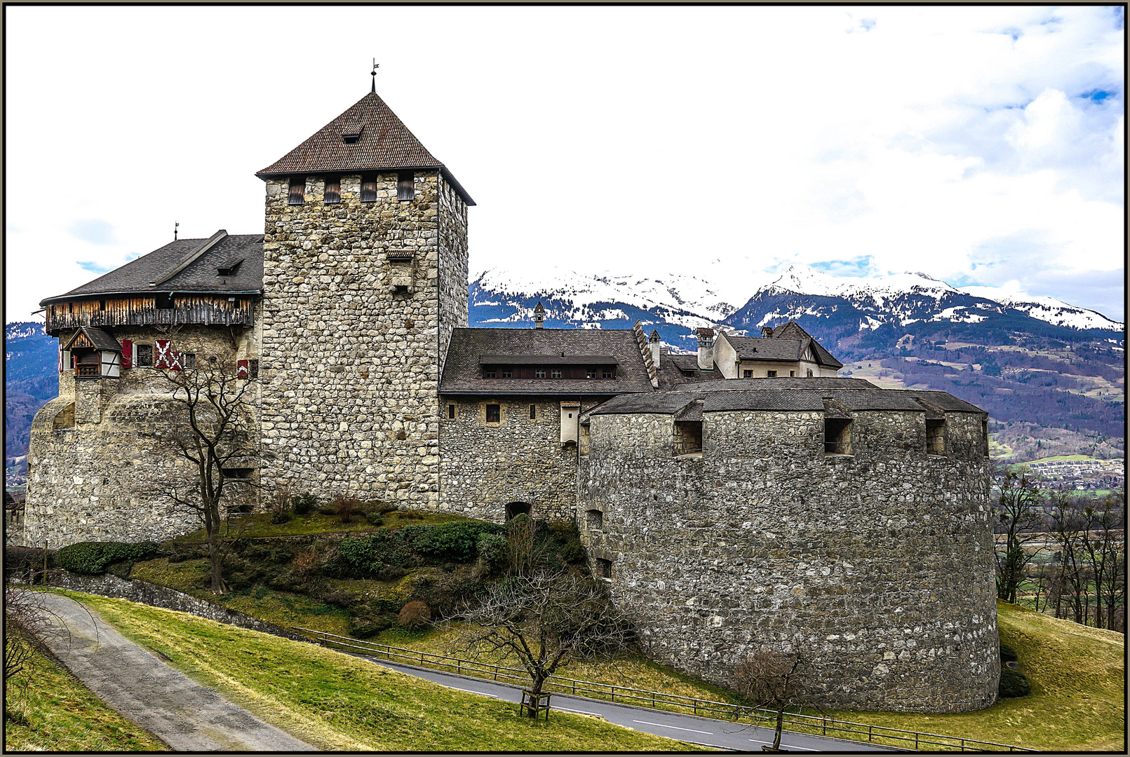
[{"label": "bare tree immediately right of the round bastion, leftmost of its group", "polygon": [[1042,547],[1031,549],[1026,542],[1035,537],[1043,538],[1043,497],[1035,479],[1027,473],[1016,473],[1007,468],[998,471],[1000,493],[993,516],[997,519],[994,531],[1005,536],[1005,543],[997,543],[997,598],[1016,603],[1016,593],[1024,581],[1028,563],[1040,552]]}]

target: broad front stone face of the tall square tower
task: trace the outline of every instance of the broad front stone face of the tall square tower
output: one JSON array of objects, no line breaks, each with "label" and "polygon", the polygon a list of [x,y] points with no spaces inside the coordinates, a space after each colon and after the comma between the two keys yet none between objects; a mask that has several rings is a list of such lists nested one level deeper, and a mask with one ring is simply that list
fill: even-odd
[{"label": "broad front stone face of the tall square tower", "polygon": [[[441,183],[417,172],[415,199],[400,201],[397,174],[380,174],[377,200],[363,203],[360,175],[345,175],[341,202],[325,205],[310,176],[306,202],[290,206],[287,182],[267,182],[268,487],[438,506]],[[389,259],[401,251],[412,259]],[[410,292],[390,292],[406,277]]]}]

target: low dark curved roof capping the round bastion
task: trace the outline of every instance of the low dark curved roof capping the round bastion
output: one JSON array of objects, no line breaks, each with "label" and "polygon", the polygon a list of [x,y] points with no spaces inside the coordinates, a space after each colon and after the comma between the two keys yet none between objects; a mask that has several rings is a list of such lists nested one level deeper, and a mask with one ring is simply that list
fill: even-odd
[{"label": "low dark curved roof capping the round bastion", "polygon": [[[822,412],[831,399],[849,410],[903,410],[927,412],[935,406],[950,412],[984,411],[948,392],[914,389],[880,389],[862,378],[731,378],[684,384],[653,394],[615,397],[590,415],[651,412],[677,415],[695,400],[703,412],[725,410],[779,410]],[[920,401],[922,400],[922,401]]]}]

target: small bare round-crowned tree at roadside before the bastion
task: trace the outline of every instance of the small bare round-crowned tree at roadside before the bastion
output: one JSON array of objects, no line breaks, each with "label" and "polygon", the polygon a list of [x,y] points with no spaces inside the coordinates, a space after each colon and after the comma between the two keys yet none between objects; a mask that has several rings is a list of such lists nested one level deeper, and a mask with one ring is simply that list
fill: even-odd
[{"label": "small bare round-crowned tree at roadside before the bastion", "polygon": [[[748,654],[730,676],[730,686],[754,707],[776,713],[776,730],[770,751],[781,750],[786,707],[814,705],[811,661],[799,650],[779,651],[765,645]],[[764,749],[764,747],[763,747]]]}]

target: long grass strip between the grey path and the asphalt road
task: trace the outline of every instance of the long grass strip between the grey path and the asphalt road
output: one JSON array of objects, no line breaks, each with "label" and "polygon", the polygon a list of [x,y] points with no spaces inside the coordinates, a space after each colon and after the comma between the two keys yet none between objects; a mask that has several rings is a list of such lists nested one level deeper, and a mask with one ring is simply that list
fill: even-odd
[{"label": "long grass strip between the grey path and the asphalt road", "polygon": [[194,680],[325,750],[654,751],[692,745],[445,688],[313,644],[125,600],[64,592]]}]

